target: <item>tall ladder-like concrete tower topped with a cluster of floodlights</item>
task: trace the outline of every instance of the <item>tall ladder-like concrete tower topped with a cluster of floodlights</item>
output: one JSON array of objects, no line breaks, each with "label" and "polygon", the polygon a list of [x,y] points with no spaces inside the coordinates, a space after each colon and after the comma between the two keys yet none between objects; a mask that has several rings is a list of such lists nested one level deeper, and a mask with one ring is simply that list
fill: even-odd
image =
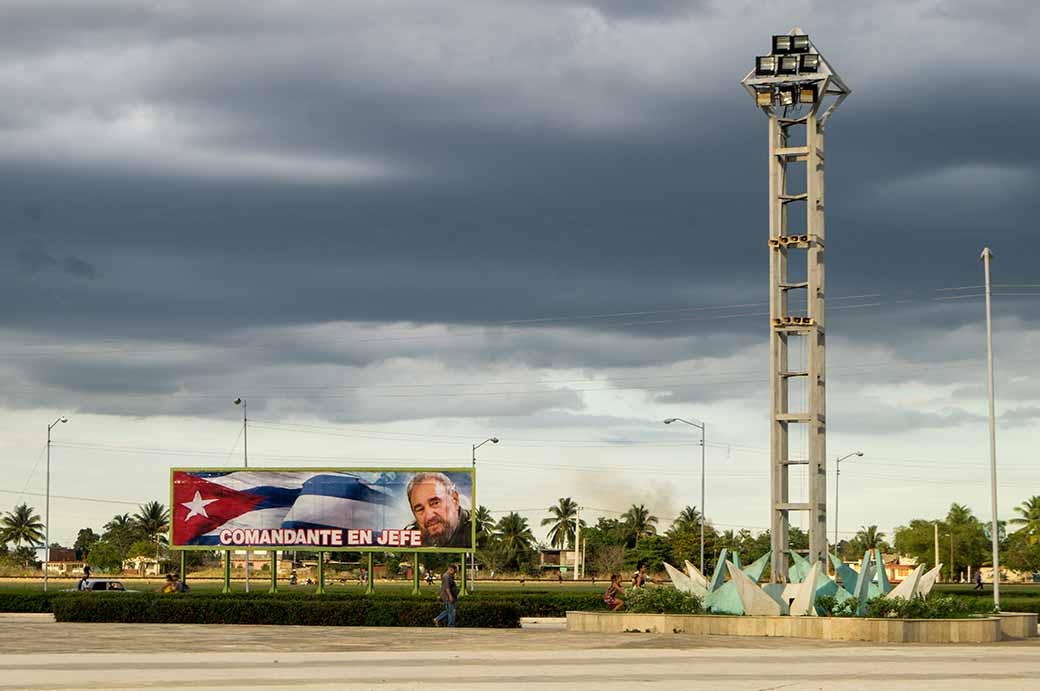
[{"label": "tall ladder-like concrete tower topped with a cluster of floodlights", "polygon": [[[769,117],[771,580],[782,583],[790,512],[809,514],[809,561],[827,558],[824,126],[851,91],[798,28],[773,36],[740,83]],[[799,432],[806,458],[790,457]],[[791,501],[792,465],[806,466],[807,502]]]}]

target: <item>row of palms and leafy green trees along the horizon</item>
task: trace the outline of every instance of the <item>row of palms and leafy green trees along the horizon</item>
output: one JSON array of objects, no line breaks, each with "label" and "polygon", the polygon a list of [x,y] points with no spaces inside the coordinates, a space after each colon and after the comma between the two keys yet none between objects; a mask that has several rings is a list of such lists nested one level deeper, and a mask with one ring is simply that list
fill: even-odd
[{"label": "row of palms and leafy green trees along the horizon", "polygon": [[[998,526],[1000,562],[1006,568],[1019,571],[1040,571],[1040,495],[1028,498],[1014,509],[1016,516]],[[572,497],[560,497],[548,507],[541,524],[547,528],[547,545],[573,549],[578,533],[579,508]],[[584,549],[586,572],[607,577],[645,562],[652,571],[664,570],[664,563],[681,566],[683,560],[698,563],[703,516],[697,507],[684,507],[660,532],[661,521],[650,509],[633,504],[617,517],[600,517],[590,524],[580,519],[581,546]],[[511,511],[497,520],[485,506],[473,511],[476,529],[476,558],[486,569],[497,572],[535,573],[540,569],[543,546],[526,517]],[[867,549],[880,548],[913,557],[928,568],[935,563],[935,535],[939,536],[939,560],[943,577],[966,580],[968,567],[992,565],[990,523],[980,520],[962,504],[953,504],[946,515],[937,519],[915,518],[894,531],[891,544],[877,526],[863,526],[848,540],[834,548],[846,560],[857,560]],[[1008,526],[1017,530],[1008,531]],[[119,570],[129,558],[147,556],[161,560],[164,556],[170,511],[159,502],[138,507],[133,515],[116,514],[106,522],[99,535],[83,528],[76,536],[73,548],[92,566],[105,571]],[[0,560],[31,566],[36,561],[36,548],[44,541],[44,524],[35,510],[27,504],[16,506],[0,517]],[[791,527],[790,546],[807,551],[808,534]],[[52,543],[51,547],[60,545]],[[757,534],[750,530],[720,531],[704,522],[705,570],[714,568],[722,549],[736,552],[746,562],[757,559],[770,549],[770,532]],[[192,561],[205,558],[192,553]],[[446,563],[450,556],[427,556],[427,566]],[[398,561],[398,560],[394,560]],[[437,564],[434,564],[437,562]]]}]

